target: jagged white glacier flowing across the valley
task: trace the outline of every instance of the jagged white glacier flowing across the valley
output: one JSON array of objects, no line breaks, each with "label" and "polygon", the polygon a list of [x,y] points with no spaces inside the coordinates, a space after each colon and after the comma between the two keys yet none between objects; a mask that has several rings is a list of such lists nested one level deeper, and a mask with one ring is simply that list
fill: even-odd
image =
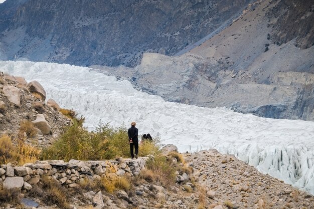
[{"label": "jagged white glacier flowing across the valley", "polygon": [[89,130],[100,120],[114,127],[136,121],[139,135],[150,133],[180,152],[214,148],[234,154],[260,172],[314,194],[314,122],[167,102],[87,67],[3,61],[0,71],[37,80],[47,99],[82,114]]}]

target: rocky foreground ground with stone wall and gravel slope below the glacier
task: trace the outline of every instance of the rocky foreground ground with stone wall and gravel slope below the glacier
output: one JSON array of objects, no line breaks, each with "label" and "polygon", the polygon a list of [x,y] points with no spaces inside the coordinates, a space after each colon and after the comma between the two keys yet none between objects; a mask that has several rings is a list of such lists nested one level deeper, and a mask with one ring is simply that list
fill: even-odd
[{"label": "rocky foreground ground with stone wall and gravel slope below the glacier", "polygon": [[[170,145],[167,149],[176,147]],[[0,172],[5,176],[4,187],[22,192],[19,196],[24,208],[309,209],[314,206],[312,195],[259,173],[233,155],[208,150],[185,154],[185,160],[171,154],[168,159],[176,169],[176,182],[169,184],[156,180],[145,169],[148,157],[38,161],[25,166],[1,165]],[[123,187],[127,185],[124,183],[110,192],[101,189],[102,182],[126,176],[132,179],[130,187]],[[64,192],[64,196],[56,191]]]}]

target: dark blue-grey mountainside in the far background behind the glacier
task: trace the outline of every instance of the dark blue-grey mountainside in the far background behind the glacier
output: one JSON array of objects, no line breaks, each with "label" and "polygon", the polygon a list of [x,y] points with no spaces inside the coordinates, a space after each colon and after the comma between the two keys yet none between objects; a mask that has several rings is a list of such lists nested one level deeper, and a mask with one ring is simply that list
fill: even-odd
[{"label": "dark blue-grey mountainside in the far background behind the glacier", "polygon": [[0,59],[135,66],[143,52],[176,54],[249,2],[7,0],[0,5]]}]

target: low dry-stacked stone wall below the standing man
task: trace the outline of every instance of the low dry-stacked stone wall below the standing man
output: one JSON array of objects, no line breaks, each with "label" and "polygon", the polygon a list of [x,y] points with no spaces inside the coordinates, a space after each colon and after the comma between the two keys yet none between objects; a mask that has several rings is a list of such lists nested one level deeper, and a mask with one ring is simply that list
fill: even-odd
[{"label": "low dry-stacked stone wall below the standing man", "polygon": [[[121,159],[121,158],[120,158]],[[43,176],[66,187],[76,187],[84,179],[99,179],[103,176],[136,176],[144,168],[148,157],[136,160],[79,161],[48,160],[14,166],[0,165],[0,189],[30,190]]]}]

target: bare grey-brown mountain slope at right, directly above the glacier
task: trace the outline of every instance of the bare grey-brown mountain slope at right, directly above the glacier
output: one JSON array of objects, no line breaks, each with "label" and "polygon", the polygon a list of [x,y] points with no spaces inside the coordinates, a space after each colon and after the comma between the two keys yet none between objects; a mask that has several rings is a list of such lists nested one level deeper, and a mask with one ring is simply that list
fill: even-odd
[{"label": "bare grey-brown mountain slope at right, directly above the glacier", "polygon": [[147,53],[136,68],[111,73],[169,101],[314,120],[313,7],[308,1],[257,1],[180,56]]}]

